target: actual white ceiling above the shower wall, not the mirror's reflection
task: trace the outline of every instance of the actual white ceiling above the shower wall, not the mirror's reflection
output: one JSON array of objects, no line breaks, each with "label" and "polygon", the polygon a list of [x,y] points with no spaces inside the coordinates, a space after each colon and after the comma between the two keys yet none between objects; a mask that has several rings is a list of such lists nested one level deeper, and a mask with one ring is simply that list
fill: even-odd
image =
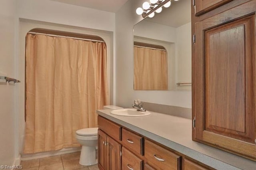
[{"label": "actual white ceiling above the shower wall, not the mirror's reflection", "polygon": [[52,0],[116,13],[128,0]]}]

